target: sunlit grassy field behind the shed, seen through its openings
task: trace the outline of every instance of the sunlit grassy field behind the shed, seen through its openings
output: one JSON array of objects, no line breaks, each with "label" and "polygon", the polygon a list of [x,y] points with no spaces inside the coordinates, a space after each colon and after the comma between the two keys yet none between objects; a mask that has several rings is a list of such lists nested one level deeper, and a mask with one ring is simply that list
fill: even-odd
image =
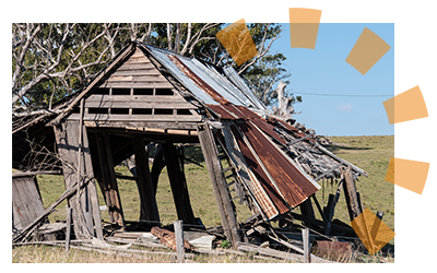
[{"label": "sunlit grassy field behind the shed, seen through its openings", "polygon": [[[373,211],[374,213],[376,213],[378,210],[382,211],[385,213],[383,222],[394,230],[394,186],[383,180],[390,157],[394,156],[394,135],[331,136],[330,139],[333,140],[334,142],[346,144],[345,146],[343,145],[329,146],[330,151],[369,173],[368,178],[359,177],[359,182],[357,182],[356,185],[358,192],[361,192],[362,194],[363,204],[365,207],[370,209],[370,211]],[[204,165],[200,146],[187,147],[186,156]],[[129,170],[123,166],[117,166],[116,171],[121,175],[130,175]],[[210,183],[210,178],[206,168],[202,168],[194,164],[186,164],[185,173],[187,177],[187,185],[189,188],[189,194],[194,215],[197,217],[200,217],[206,227],[220,226],[221,225],[220,214],[216,209],[214,192]],[[64,191],[62,177],[38,176],[37,179],[45,206],[50,205]],[[321,186],[323,186],[323,189],[320,189],[320,191],[317,193],[317,197],[319,199],[319,202],[323,206],[328,201],[329,193],[334,193],[334,191],[336,190],[336,185],[334,183],[331,186],[330,181],[324,181],[324,182],[319,181],[319,182]],[[130,180],[118,179],[118,187],[120,190],[120,198],[125,213],[125,218],[127,221],[138,221],[140,215],[139,213],[140,200],[135,182]],[[99,194],[98,197],[99,203],[101,205],[104,205],[104,199],[99,190],[98,194]],[[157,198],[157,206],[160,210],[161,222],[163,223],[163,225],[170,224],[175,219],[177,219],[172,189],[169,186],[168,176],[165,168],[160,177],[156,198]],[[63,202],[58,206],[57,211],[50,215],[51,222],[66,218],[64,216],[66,205],[67,203]],[[239,204],[236,205],[238,210],[239,221],[244,221],[250,216],[250,212],[246,206]],[[316,214],[316,216],[321,218],[318,214]],[[102,211],[102,217],[104,221],[109,221],[106,211]],[[341,193],[339,204],[335,207],[334,218],[339,218],[345,223],[350,222],[343,192]],[[394,238],[389,242],[389,245],[394,247]],[[25,249],[29,250],[25,251]],[[28,259],[28,257],[32,257],[29,252],[33,252],[35,254],[40,252],[34,249],[43,249],[44,251],[51,251],[48,250],[49,248],[47,247],[14,248],[12,250],[13,262],[26,262],[26,261],[50,262],[48,260],[44,260],[43,258],[42,260]],[[81,251],[75,250],[75,252],[81,252]],[[99,256],[96,257],[97,257],[95,258],[96,260],[101,259]],[[64,258],[64,259],[66,260],[59,260],[59,262],[76,261],[75,260],[76,258],[74,258],[74,256],[72,258]],[[220,259],[222,260],[217,260],[216,262],[223,262],[223,261],[241,262],[243,258],[238,260],[234,258],[222,257]],[[251,258],[251,260],[249,259],[248,261],[256,262],[258,260]]]}]

